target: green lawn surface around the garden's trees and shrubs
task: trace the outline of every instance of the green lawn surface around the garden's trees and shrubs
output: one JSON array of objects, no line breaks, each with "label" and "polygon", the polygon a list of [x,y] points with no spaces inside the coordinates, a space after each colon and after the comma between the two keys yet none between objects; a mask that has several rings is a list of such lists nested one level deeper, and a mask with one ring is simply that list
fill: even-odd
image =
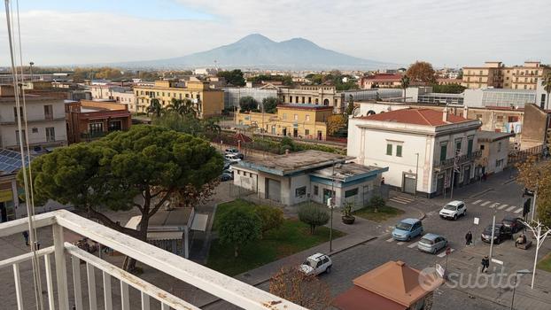
[{"label": "green lawn surface around the garden's trees and shrubs", "polygon": [[[218,205],[214,215],[213,229],[218,227],[224,213],[228,213],[232,208],[241,207],[254,208],[255,205],[241,199]],[[213,268],[225,275],[239,275],[247,270],[329,241],[330,229],[318,227],[315,229],[314,235],[310,235],[309,229],[307,224],[299,220],[285,220],[280,229],[268,231],[263,239],[244,246],[237,259],[233,256],[231,244],[221,244],[218,239],[214,239],[206,267]],[[333,238],[339,236],[345,236],[345,233],[333,229]]]}]

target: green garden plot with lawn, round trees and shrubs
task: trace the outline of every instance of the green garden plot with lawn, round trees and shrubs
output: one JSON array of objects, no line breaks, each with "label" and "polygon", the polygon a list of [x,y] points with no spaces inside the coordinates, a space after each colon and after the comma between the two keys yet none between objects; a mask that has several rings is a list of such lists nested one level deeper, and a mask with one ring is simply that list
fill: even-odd
[{"label": "green garden plot with lawn, round trees and shrubs", "polygon": [[[330,229],[303,221],[284,219],[279,208],[242,199],[220,204],[213,220],[218,238],[213,239],[206,267],[238,275],[329,241]],[[333,238],[344,235],[333,229]]]}]

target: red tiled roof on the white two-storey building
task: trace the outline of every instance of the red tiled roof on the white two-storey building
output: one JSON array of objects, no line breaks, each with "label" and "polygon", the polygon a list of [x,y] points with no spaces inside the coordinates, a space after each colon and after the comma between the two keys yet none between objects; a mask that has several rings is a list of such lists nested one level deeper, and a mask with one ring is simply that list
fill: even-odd
[{"label": "red tiled roof on the white two-storey building", "polygon": [[363,116],[363,120],[393,121],[405,124],[424,125],[424,126],[442,126],[447,124],[461,123],[469,121],[461,116],[447,114],[447,122],[442,120],[442,113],[431,109],[402,109],[391,112],[384,112]]}]

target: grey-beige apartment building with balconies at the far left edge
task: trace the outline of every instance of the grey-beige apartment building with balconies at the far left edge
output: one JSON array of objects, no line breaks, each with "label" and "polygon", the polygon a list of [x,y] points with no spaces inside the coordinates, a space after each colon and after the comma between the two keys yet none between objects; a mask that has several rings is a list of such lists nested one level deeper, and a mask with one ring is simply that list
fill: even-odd
[{"label": "grey-beige apartment building with balconies at the far left edge", "polygon": [[[0,85],[0,147],[19,150],[18,115],[27,120],[28,132],[24,131],[23,141],[34,151],[66,145],[66,120],[64,100],[56,97],[26,95],[27,112],[15,106],[12,86]],[[21,100],[22,104],[22,100]]]}]

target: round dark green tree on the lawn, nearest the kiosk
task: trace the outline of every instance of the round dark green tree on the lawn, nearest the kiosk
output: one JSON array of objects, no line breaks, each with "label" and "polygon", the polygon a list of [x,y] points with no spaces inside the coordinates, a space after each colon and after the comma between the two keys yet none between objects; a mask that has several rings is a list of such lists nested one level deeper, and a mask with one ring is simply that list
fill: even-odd
[{"label": "round dark green tree on the lawn, nearest the kiosk", "polygon": [[239,249],[245,244],[260,238],[260,218],[252,211],[233,209],[225,213],[220,222],[220,241],[222,244],[233,244],[234,257],[239,255]]}]

